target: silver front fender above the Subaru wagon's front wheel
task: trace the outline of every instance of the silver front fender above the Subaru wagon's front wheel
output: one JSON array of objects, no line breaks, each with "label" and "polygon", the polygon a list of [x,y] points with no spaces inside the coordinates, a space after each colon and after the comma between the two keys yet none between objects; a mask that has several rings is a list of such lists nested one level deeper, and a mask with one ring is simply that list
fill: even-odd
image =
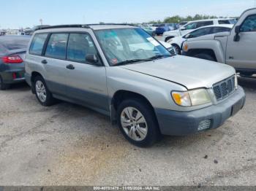
[{"label": "silver front fender above the Subaru wagon's front wheel", "polygon": [[171,98],[171,91],[186,91],[186,87],[146,74],[121,69],[107,68],[108,95],[113,98],[119,90],[143,95],[154,108],[180,109]]}]

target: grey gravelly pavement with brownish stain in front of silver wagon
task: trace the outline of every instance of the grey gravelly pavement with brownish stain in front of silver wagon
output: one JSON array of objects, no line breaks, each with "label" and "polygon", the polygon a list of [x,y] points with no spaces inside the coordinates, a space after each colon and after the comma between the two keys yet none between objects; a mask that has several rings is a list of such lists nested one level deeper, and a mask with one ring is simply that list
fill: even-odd
[{"label": "grey gravelly pavement with brownish stain in front of silver wagon", "polygon": [[89,109],[42,107],[25,84],[1,91],[0,184],[256,185],[256,79],[239,81],[246,106],[221,128],[148,149]]}]

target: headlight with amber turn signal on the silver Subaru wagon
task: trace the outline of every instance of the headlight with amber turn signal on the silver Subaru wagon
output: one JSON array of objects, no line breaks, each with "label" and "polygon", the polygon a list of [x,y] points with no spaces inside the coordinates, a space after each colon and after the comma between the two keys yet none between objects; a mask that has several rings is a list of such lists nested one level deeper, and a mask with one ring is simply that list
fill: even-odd
[{"label": "headlight with amber turn signal on the silver Subaru wagon", "polygon": [[211,97],[205,89],[187,92],[172,92],[173,101],[179,106],[199,106],[211,103]]}]

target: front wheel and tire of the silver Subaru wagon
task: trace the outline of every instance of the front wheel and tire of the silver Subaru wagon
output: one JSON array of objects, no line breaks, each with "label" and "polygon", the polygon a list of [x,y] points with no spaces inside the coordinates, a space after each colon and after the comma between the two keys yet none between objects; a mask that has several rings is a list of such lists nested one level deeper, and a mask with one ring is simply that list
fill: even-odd
[{"label": "front wheel and tire of the silver Subaru wagon", "polygon": [[[130,114],[132,117],[129,117]],[[117,117],[121,133],[137,147],[151,147],[161,137],[154,111],[141,99],[127,99],[121,102]],[[131,118],[134,120],[129,120]]]}]

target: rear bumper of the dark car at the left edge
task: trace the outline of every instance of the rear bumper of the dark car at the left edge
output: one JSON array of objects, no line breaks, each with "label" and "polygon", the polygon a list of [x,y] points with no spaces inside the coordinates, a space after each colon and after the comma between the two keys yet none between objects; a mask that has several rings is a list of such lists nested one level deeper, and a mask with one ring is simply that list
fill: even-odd
[{"label": "rear bumper of the dark car at the left edge", "polygon": [[0,72],[0,75],[5,84],[15,84],[19,82],[25,82],[24,73],[25,71],[22,69]]}]

